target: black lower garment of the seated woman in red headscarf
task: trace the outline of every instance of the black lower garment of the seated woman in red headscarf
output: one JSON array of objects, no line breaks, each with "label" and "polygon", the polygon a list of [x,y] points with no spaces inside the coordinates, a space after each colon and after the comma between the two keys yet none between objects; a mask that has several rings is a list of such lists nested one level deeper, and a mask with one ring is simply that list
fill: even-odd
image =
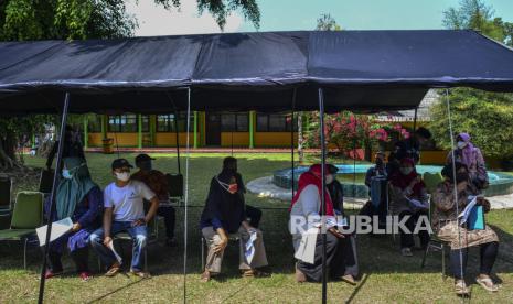
[{"label": "black lower garment of the seated woman in red headscarf", "polygon": [[[339,239],[331,232],[327,232],[327,272],[333,279],[338,279],[345,273],[350,267],[354,267],[356,259],[354,257],[351,239]],[[316,256],[313,264],[298,261],[298,269],[304,273],[309,281],[322,281],[322,235],[317,236]],[[353,273],[351,273],[353,274]]]}]

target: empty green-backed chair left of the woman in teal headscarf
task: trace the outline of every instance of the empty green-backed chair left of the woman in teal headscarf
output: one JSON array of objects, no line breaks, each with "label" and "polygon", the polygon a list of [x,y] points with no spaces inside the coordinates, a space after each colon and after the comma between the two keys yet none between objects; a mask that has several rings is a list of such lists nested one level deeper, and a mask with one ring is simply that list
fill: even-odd
[{"label": "empty green-backed chair left of the woman in teal headscarf", "polygon": [[35,235],[35,228],[43,225],[43,194],[20,192],[12,211],[9,229],[0,230],[0,241],[23,242],[23,268],[26,269],[26,245]]}]

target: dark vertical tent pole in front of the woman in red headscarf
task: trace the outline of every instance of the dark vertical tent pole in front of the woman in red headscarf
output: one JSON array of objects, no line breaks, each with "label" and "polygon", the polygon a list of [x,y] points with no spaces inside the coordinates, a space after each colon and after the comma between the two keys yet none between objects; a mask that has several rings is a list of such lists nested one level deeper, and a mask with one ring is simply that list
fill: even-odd
[{"label": "dark vertical tent pole in front of the woman in red headscarf", "polygon": [[322,191],[321,191],[321,236],[322,236],[322,303],[327,303],[327,272],[325,272],[325,243],[327,243],[327,227],[325,227],[325,141],[324,141],[324,91],[319,88],[319,124],[320,124],[320,139],[321,139],[321,176],[322,176]]}]

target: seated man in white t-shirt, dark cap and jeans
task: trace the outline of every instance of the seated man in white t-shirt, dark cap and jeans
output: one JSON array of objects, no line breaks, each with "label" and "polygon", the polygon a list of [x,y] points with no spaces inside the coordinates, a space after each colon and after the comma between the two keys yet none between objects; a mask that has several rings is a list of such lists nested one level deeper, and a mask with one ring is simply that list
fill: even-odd
[{"label": "seated man in white t-shirt, dark cap and jeans", "polygon": [[[128,232],[133,239],[130,273],[145,278],[142,271],[142,254],[147,240],[147,224],[153,218],[159,208],[159,198],[142,182],[130,180],[130,167],[127,160],[117,159],[113,162],[113,175],[116,182],[104,189],[104,227],[94,231],[90,243],[104,264],[108,265],[107,276],[114,276],[121,268],[110,250],[113,236]],[[143,199],[151,203],[145,215]]]}]

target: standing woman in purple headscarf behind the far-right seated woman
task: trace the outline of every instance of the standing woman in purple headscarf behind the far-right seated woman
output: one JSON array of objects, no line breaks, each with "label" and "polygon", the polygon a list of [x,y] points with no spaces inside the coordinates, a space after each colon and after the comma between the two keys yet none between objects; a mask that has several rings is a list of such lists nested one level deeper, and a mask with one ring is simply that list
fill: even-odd
[{"label": "standing woman in purple headscarf behind the far-right seated woman", "polygon": [[484,163],[481,150],[472,144],[468,133],[459,133],[456,137],[457,149],[447,155],[447,164],[452,163],[452,153],[455,162],[464,164],[469,170],[470,182],[474,184],[478,191],[488,187],[487,164]]}]

